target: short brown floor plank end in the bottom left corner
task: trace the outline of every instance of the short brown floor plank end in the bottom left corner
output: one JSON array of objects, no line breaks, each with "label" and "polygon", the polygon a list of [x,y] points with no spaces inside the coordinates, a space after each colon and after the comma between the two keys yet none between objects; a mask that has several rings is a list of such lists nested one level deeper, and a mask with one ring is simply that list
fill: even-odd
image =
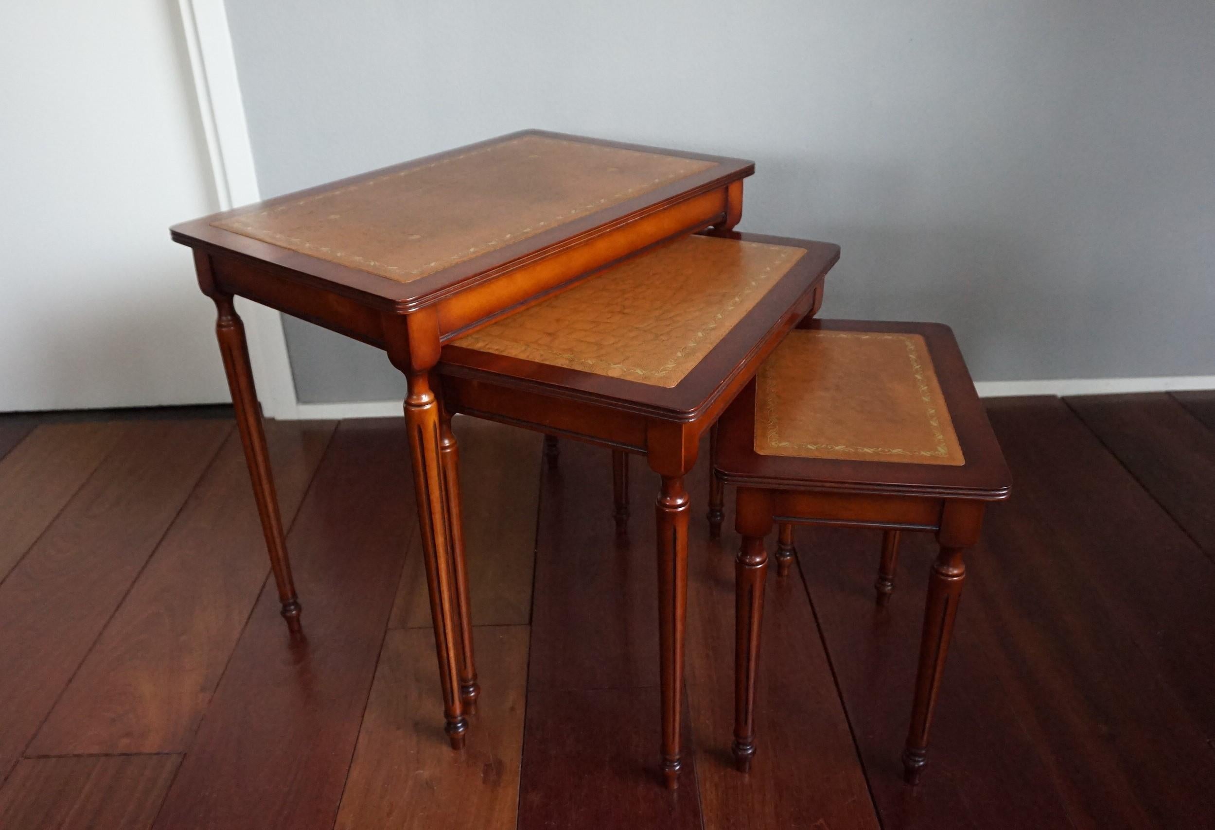
[{"label": "short brown floor plank end in the bottom left corner", "polygon": [[177,755],[26,758],[0,789],[0,828],[147,830]]}]

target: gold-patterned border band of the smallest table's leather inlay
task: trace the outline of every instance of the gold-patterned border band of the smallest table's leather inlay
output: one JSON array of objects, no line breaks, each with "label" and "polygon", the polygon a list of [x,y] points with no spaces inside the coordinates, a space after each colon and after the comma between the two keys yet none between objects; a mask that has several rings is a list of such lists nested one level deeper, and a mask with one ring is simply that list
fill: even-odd
[{"label": "gold-patterned border band of the smallest table's leather inlay", "polygon": [[[953,424],[948,425],[950,435],[954,436],[954,444],[957,445],[957,462],[936,461],[949,458],[951,452],[945,437],[944,428],[942,427],[940,413],[937,411],[937,406],[932,399],[932,389],[928,385],[928,379],[925,373],[923,362],[920,358],[919,345],[923,343],[923,338],[916,334],[898,334],[898,333],[877,333],[877,332],[826,332],[826,331],[814,331],[814,332],[796,332],[797,337],[814,335],[819,338],[847,338],[858,340],[902,340],[906,345],[908,361],[911,368],[911,376],[915,379],[916,389],[920,393],[920,401],[925,406],[925,418],[927,424],[932,430],[932,436],[936,442],[936,447],[932,450],[904,450],[902,447],[866,447],[866,446],[852,446],[846,444],[809,444],[798,441],[786,441],[780,437],[780,419],[778,417],[776,410],[774,407],[775,396],[767,391],[767,374],[764,373],[764,367],[759,369],[759,378],[756,384],[756,436],[755,436],[755,451],[764,456],[790,456],[795,453],[790,452],[772,452],[772,450],[801,450],[815,453],[840,453],[840,456],[871,456],[872,458],[863,458],[863,461],[904,461],[915,462],[922,459],[922,463],[938,463],[938,464],[950,464],[960,467],[966,463],[962,454],[962,448],[957,445],[956,434],[954,434]],[[763,412],[761,412],[763,407]],[[762,416],[762,418],[761,418]],[[949,413],[945,413],[946,420],[949,419]],[[758,425],[761,419],[764,423],[764,437],[767,444],[762,444]],[[768,452],[765,452],[768,450]],[[830,458],[831,456],[818,454],[818,458]],[[847,461],[846,457],[838,457],[838,461]],[[932,459],[932,461],[929,461]]]}]

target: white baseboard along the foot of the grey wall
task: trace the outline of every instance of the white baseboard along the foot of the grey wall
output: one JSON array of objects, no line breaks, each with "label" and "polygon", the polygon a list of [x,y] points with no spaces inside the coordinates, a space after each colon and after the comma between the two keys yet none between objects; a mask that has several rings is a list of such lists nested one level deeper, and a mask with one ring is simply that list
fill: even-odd
[{"label": "white baseboard along the foot of the grey wall", "polygon": [[[1112,395],[1117,393],[1163,393],[1182,389],[1215,389],[1215,374],[1169,378],[1083,378],[1064,380],[987,380],[974,384],[979,397],[1016,395]],[[354,401],[350,403],[299,403],[288,420],[333,420],[340,418],[397,418],[403,401]]]}]

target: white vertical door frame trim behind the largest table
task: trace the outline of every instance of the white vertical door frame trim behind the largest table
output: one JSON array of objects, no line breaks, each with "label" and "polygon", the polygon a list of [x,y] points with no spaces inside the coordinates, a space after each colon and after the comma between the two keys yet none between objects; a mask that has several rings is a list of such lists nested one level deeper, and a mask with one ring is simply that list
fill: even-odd
[{"label": "white vertical door frame trim behind the largest table", "polygon": [[[220,209],[258,202],[261,196],[224,0],[177,0],[177,5]],[[282,316],[256,303],[238,303],[264,413],[300,418]]]}]

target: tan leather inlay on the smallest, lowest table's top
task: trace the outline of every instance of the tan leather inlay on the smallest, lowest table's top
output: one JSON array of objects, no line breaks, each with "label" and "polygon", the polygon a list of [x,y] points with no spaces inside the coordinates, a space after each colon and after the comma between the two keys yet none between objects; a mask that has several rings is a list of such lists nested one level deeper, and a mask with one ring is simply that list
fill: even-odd
[{"label": "tan leather inlay on the smallest, lowest table's top", "polygon": [[919,334],[791,332],[756,384],[759,454],[966,463]]}]

